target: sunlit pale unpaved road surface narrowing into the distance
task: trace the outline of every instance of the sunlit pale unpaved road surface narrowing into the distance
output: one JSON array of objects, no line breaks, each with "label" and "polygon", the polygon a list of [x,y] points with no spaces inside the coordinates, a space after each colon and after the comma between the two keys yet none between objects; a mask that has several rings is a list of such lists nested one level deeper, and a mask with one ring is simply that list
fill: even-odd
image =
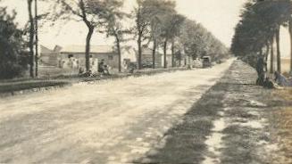
[{"label": "sunlit pale unpaved road surface narrowing into the distance", "polygon": [[[79,84],[1,99],[0,163],[143,163],[151,160],[148,155],[164,153],[158,148],[165,149],[165,161],[193,152],[196,157],[196,150],[204,148],[201,135],[208,133],[176,141],[188,143],[189,152],[178,145],[167,153],[168,132],[185,121],[186,113],[231,62],[208,70]],[[194,124],[196,128],[210,127],[199,118],[191,121],[202,122]],[[201,143],[191,149],[196,138]]]}]

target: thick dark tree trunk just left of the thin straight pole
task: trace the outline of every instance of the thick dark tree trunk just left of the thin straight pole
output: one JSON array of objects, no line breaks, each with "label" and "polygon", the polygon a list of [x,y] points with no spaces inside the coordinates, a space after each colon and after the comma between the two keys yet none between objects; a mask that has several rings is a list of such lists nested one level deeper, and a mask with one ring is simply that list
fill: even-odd
[{"label": "thick dark tree trunk just left of the thin straight pole", "polygon": [[32,16],[32,0],[28,0],[28,6],[29,6],[29,75],[31,78],[34,78],[34,37],[35,37],[35,23]]}]

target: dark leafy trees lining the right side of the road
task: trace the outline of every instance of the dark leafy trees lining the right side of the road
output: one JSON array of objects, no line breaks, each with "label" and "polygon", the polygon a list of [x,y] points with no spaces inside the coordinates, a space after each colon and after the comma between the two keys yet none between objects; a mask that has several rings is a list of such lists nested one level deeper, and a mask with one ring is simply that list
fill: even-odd
[{"label": "dark leafy trees lining the right side of the road", "polygon": [[[281,72],[280,27],[288,27],[291,38],[291,71],[292,71],[292,4],[290,0],[251,0],[245,4],[241,21],[236,27],[231,51],[242,56],[255,66],[256,59],[264,56],[271,58],[270,70],[273,73],[275,54],[277,70]],[[274,44],[276,43],[276,51]]]}]

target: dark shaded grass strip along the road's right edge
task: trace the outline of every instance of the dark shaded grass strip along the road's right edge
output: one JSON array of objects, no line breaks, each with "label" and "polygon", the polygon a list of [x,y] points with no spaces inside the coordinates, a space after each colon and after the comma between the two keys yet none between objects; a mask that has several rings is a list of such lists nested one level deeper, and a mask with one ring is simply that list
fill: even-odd
[{"label": "dark shaded grass strip along the road's right edge", "polygon": [[224,87],[213,86],[185,114],[183,121],[172,127],[160,145],[146,153],[146,157],[134,163],[199,163],[208,152],[204,143],[212,133],[213,120],[220,117]]}]

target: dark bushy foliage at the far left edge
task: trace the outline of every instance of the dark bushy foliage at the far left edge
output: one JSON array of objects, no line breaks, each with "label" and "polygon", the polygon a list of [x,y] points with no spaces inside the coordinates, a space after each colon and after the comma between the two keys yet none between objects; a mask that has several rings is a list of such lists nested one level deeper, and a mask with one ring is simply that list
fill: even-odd
[{"label": "dark bushy foliage at the far left edge", "polygon": [[0,7],[0,78],[14,78],[26,70],[27,62],[21,54],[26,48],[23,32],[14,22],[16,12],[8,14]]}]

